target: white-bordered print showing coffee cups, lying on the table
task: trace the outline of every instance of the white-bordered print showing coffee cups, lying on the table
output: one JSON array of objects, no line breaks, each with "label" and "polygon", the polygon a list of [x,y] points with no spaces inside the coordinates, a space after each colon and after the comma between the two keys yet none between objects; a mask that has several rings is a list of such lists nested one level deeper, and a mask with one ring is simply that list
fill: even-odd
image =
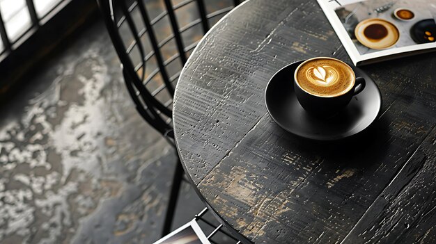
[{"label": "white-bordered print showing coffee cups, lying on the table", "polygon": [[318,0],[354,65],[436,50],[436,0]]}]

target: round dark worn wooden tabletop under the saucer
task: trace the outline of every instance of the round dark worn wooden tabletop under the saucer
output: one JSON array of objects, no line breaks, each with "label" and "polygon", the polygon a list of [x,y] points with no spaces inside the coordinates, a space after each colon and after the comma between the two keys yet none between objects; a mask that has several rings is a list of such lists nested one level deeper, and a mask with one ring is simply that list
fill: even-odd
[{"label": "round dark worn wooden tabletop under the saucer", "polygon": [[265,108],[271,76],[313,56],[350,63],[314,0],[247,1],[203,38],[173,104],[194,187],[245,242],[435,243],[435,53],[361,67],[380,117],[331,143],[283,131]]}]

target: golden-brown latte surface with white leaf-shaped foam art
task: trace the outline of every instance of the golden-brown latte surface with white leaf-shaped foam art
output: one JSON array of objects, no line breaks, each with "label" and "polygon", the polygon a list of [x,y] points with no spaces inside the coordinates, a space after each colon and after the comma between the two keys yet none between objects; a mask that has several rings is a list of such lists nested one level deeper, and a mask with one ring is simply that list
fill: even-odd
[{"label": "golden-brown latte surface with white leaf-shaped foam art", "polygon": [[315,58],[307,60],[295,74],[300,88],[319,97],[345,94],[355,85],[355,73],[340,60]]}]

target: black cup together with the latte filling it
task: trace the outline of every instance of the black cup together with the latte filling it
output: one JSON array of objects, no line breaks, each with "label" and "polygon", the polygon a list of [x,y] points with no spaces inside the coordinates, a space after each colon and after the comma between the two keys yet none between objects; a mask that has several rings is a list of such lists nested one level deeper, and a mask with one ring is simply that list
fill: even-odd
[{"label": "black cup together with the latte filling it", "polygon": [[311,58],[294,73],[294,90],[299,104],[314,115],[330,117],[350,102],[365,87],[350,65],[328,57]]}]

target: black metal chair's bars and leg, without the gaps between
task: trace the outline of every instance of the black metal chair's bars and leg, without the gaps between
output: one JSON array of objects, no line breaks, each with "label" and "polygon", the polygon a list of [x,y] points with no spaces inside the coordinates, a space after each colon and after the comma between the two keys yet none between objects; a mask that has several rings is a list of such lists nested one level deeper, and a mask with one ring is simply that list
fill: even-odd
[{"label": "black metal chair's bars and leg, without the gaps between", "polygon": [[[203,33],[206,33],[210,28],[208,19],[228,13],[233,6],[208,14],[206,13],[204,0],[182,0],[174,6],[171,3],[171,0],[163,1],[166,10],[157,15],[154,19],[150,19],[146,9],[146,4],[141,0],[97,0],[109,36],[114,44],[118,58],[120,59],[125,85],[134,101],[135,108],[146,122],[159,131],[159,133],[162,133],[164,138],[169,140],[169,142],[175,146],[171,120],[172,111],[169,106],[172,105],[172,98],[174,95],[173,83],[178,79],[180,72],[176,75],[169,76],[166,71],[166,66],[175,60],[180,59],[183,67],[187,60],[187,52],[192,51],[194,47],[196,47],[198,42],[184,47],[182,42],[183,32],[201,24]],[[196,3],[200,18],[180,28],[175,11],[193,2]],[[233,0],[233,3],[234,6],[237,6],[240,1]],[[143,25],[144,29],[138,29],[137,24],[135,24],[137,19],[132,17],[133,10],[139,10],[142,22],[141,26]],[[118,16],[120,16],[119,19],[116,18]],[[158,42],[153,25],[164,17],[169,18],[172,34],[161,42]],[[123,38],[120,34],[120,26],[125,23],[127,23],[128,29],[133,37],[132,42],[128,46],[123,42]],[[150,45],[153,48],[153,51],[149,54],[146,54],[145,48],[141,42],[141,38],[143,35],[146,35],[146,33],[148,34]],[[160,48],[171,40],[175,40],[176,42],[177,54],[171,56],[168,60],[164,60]],[[141,58],[141,61],[138,64],[135,64],[130,57],[130,54],[135,47],[139,51],[139,56]],[[157,61],[157,69],[153,70],[153,72],[146,77],[146,63],[152,56],[155,56],[155,60]],[[150,91],[146,85],[157,74],[161,74],[163,84],[156,90]],[[171,99],[166,102],[159,101],[159,99],[155,97],[159,92],[168,92]],[[169,206],[165,213],[162,236],[169,234],[171,230],[171,223],[176,209],[176,202],[182,179],[183,168],[180,161],[178,161],[173,175],[173,184],[171,186]]]}]

